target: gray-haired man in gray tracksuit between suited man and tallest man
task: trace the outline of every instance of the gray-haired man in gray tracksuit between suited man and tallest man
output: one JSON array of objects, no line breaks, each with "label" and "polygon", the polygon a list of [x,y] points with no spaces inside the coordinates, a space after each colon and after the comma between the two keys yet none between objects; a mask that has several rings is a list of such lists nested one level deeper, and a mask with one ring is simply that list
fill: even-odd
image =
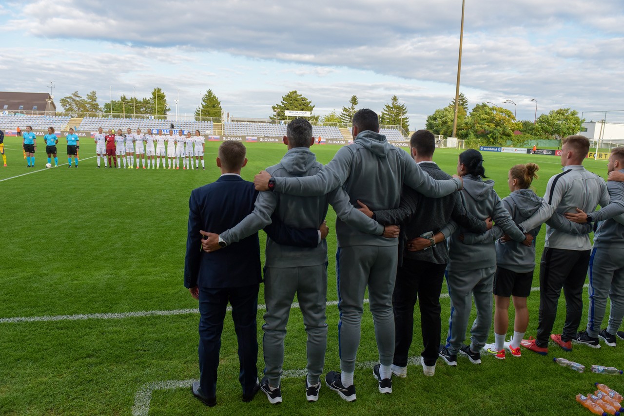
[{"label": "gray-haired man in gray tracksuit between suited man and tallest man", "polygon": [[[296,119],[288,123],[283,142],[288,146],[288,152],[280,163],[266,168],[273,177],[310,176],[321,170],[323,165],[316,162],[314,153],[310,151],[314,144],[310,122]],[[220,235],[209,233],[208,239],[203,241],[203,248],[215,251],[220,248],[219,241],[222,241],[222,246],[228,246],[256,233],[271,223],[274,212],[286,225],[296,228],[316,227],[324,222],[328,203],[331,203],[341,220],[364,233],[388,237],[398,234],[396,226],[385,228],[358,212],[349,203],[349,197],[342,188],[336,188],[323,196],[308,197],[263,192],[258,196],[250,215]],[[260,389],[272,404],[282,401],[280,379],[284,339],[295,294],[308,333],[306,399],[316,401],[321,388],[320,376],[327,346],[327,244],[323,240],[316,248],[298,248],[278,244],[268,238],[265,264],[266,323],[262,326],[265,332],[265,377],[260,382]]]}]

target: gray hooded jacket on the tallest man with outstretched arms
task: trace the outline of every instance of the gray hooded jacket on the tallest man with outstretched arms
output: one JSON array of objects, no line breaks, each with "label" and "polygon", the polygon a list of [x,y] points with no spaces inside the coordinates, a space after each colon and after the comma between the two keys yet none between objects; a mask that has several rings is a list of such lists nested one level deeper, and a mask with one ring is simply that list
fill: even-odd
[{"label": "gray hooded jacket on the tallest man with outstretched arms", "polygon": [[[289,195],[324,195],[340,186],[348,193],[351,205],[360,200],[371,211],[397,208],[401,201],[401,186],[425,196],[440,197],[456,191],[461,180],[437,181],[421,170],[407,152],[396,148],[384,135],[369,130],[361,132],[352,145],[338,150],[334,158],[310,177],[275,178],[275,191]],[[392,246],[396,238],[364,234],[353,226],[336,221],[338,246]]]}]

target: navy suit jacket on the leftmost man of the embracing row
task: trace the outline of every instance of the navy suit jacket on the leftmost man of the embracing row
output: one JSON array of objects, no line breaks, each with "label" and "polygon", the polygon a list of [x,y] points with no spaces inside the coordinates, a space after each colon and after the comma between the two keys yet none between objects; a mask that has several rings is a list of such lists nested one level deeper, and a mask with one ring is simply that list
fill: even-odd
[{"label": "navy suit jacket on the leftmost man of the embracing row", "polygon": [[[188,201],[187,254],[184,286],[193,288],[240,288],[262,281],[260,242],[255,233],[238,243],[213,253],[202,250],[199,231],[223,233],[240,223],[251,211],[258,196],[253,182],[237,175],[226,175],[191,192]],[[301,247],[318,244],[318,230],[296,230],[275,221],[265,228],[273,241]]]}]

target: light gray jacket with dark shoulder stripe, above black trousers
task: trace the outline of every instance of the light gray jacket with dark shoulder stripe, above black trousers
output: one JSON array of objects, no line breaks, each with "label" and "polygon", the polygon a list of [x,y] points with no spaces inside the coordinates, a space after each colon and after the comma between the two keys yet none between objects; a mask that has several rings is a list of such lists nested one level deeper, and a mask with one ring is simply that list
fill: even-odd
[{"label": "light gray jacket with dark shoulder stripe, above black trousers", "polygon": [[[567,212],[575,214],[577,208],[580,208],[587,213],[593,213],[598,205],[605,207],[608,205],[609,193],[603,178],[589,172],[582,165],[569,165],[563,167],[562,170],[562,173],[548,180],[544,194],[544,200],[554,208],[555,212],[561,215]],[[520,228],[531,230],[547,219],[548,216],[544,218],[536,213],[524,221]],[[557,219],[560,217],[553,215],[550,220],[546,221],[545,247],[576,251],[592,248],[587,234],[570,233],[553,224],[552,221]]]}]

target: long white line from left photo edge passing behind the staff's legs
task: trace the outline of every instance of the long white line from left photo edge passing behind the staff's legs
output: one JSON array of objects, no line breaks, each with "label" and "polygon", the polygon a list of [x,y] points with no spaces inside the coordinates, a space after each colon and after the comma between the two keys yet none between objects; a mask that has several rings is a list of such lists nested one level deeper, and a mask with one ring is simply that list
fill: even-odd
[{"label": "long white line from left photo edge passing behind the staff's legs", "polygon": [[[583,288],[588,288],[588,284],[585,284]],[[532,292],[539,292],[540,288],[531,288]],[[448,293],[441,293],[440,299],[447,299]],[[364,303],[368,303],[368,299],[364,299]],[[337,305],[338,301],[328,301],[327,306]],[[291,305],[293,308],[298,308],[298,302]],[[232,306],[227,307],[228,311],[232,311]],[[266,305],[258,305],[259,311],[266,311]],[[0,324],[16,324],[19,322],[50,322],[50,321],[80,321],[82,319],[123,319],[131,317],[143,317],[143,316],[172,316],[172,315],[188,315],[198,314],[199,309],[173,309],[170,311],[139,311],[139,312],[119,312],[119,313],[100,313],[100,314],[77,314],[77,315],[52,315],[52,316],[16,316],[8,318],[0,318]]]}]

